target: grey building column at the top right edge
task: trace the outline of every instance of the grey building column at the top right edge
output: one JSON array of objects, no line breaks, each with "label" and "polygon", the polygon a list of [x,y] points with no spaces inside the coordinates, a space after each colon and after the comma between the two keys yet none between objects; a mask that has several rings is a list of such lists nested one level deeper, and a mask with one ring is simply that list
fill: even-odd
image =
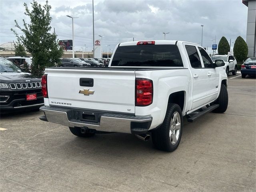
[{"label": "grey building column at the top right edge", "polygon": [[243,0],[248,7],[246,43],[248,45],[248,57],[255,57],[256,45],[256,0]]}]

